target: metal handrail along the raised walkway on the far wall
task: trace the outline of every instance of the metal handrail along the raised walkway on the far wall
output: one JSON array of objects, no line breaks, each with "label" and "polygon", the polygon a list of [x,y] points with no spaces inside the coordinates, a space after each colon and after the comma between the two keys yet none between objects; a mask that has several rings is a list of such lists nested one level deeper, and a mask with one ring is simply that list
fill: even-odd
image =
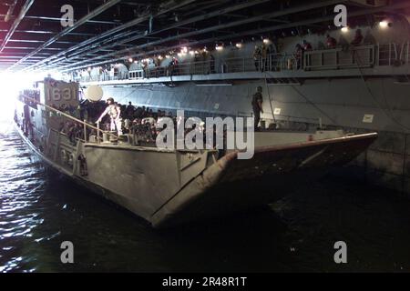
[{"label": "metal handrail along the raised walkway on the far wall", "polygon": [[[406,63],[410,60],[410,49],[408,43],[406,45],[405,55]],[[369,51],[369,60],[362,65],[392,65],[392,60],[398,57],[397,47],[395,43],[389,44],[377,44],[377,45],[357,45],[351,48],[350,51]],[[343,48],[338,46],[331,49],[312,50],[305,51],[302,59],[298,59],[294,54],[280,53],[269,54],[265,58],[259,57],[254,59],[253,57],[232,57],[219,60],[204,60],[193,61],[188,63],[180,63],[173,66],[157,66],[153,68],[146,68],[142,78],[150,77],[164,77],[164,76],[176,76],[176,75],[208,75],[208,74],[225,74],[225,73],[246,73],[246,72],[263,72],[263,71],[296,71],[296,70],[309,70],[313,68],[329,68],[329,67],[344,67],[356,65],[354,60],[354,54],[351,55],[351,60],[348,63],[343,63],[340,54],[343,52]],[[321,63],[323,63],[323,56],[326,54],[334,54],[334,63],[329,65],[313,65],[313,56],[321,56]],[[347,59],[348,60],[348,59]],[[302,62],[302,63],[299,63]],[[133,71],[129,71],[133,72]],[[83,82],[91,80],[95,81],[110,81],[110,80],[125,80],[132,79],[127,74],[118,74],[115,76],[98,75],[97,77],[80,77]]]}]

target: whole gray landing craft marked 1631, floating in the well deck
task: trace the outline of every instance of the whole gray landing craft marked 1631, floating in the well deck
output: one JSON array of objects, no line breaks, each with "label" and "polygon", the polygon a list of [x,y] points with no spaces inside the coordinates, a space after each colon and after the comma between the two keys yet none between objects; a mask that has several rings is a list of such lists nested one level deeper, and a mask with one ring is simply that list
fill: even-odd
[{"label": "whole gray landing craft marked 1631, floating in the well deck", "polygon": [[[94,97],[90,100],[101,95]],[[46,78],[19,95],[15,125],[47,165],[157,227],[272,203],[295,181],[301,185],[348,163],[377,136],[322,129],[261,131],[254,134],[252,158],[241,160],[241,150],[216,145],[159,148],[153,118],[138,121],[123,135],[109,131],[110,125],[108,130],[96,127],[95,119],[74,116],[85,114],[83,102],[77,83]]]}]

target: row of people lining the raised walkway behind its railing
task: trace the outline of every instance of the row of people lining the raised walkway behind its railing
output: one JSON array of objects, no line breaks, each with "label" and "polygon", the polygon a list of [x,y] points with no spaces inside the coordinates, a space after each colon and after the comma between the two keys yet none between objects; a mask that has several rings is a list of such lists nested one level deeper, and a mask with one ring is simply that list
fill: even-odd
[{"label": "row of people lining the raised walkway behind its railing", "polygon": [[[343,35],[339,40],[336,40],[330,34],[324,35],[322,41],[313,45],[306,39],[295,45],[295,49],[290,54],[282,54],[282,45],[277,41],[271,41],[264,39],[261,45],[255,45],[253,52],[251,53],[251,59],[253,60],[256,71],[263,72],[267,70],[280,70],[282,65],[285,65],[288,69],[300,69],[302,68],[302,60],[305,52],[313,50],[334,49],[342,47],[343,51],[348,51],[349,47],[362,44],[374,44],[374,37],[370,32],[367,32],[364,36],[361,29],[355,31],[353,40],[347,40]],[[141,77],[160,77],[160,76],[173,76],[173,75],[190,75],[190,74],[215,74],[217,72],[226,73],[226,65],[229,64],[229,60],[222,60],[219,62],[220,70],[217,69],[215,60],[216,51],[208,50],[204,48],[200,51],[191,52],[193,54],[192,67],[187,66],[186,61],[183,61],[178,55],[167,55],[167,58],[162,58],[160,55],[154,57],[143,58],[134,60],[130,58],[125,61],[124,65],[128,66],[128,70],[119,69],[118,65],[111,65],[103,68],[99,68],[97,74],[98,78],[101,77],[104,80],[110,77],[118,79],[128,78],[141,78]],[[186,55],[186,53],[185,53]],[[232,60],[234,62],[234,60]],[[284,64],[283,64],[284,62]],[[135,65],[135,63],[137,65]],[[236,67],[235,65],[233,65]],[[86,79],[94,79],[91,75],[91,68],[88,68],[88,72],[78,71],[74,73],[74,78],[78,75]],[[137,74],[140,72],[140,74]],[[83,75],[84,74],[84,75]],[[97,77],[96,75],[96,77]],[[86,80],[87,81],[87,80]]]}]

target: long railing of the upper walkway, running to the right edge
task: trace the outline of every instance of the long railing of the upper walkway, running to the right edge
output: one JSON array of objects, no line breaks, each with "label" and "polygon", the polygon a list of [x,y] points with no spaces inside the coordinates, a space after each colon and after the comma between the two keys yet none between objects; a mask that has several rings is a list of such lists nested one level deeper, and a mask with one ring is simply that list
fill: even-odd
[{"label": "long railing of the upper walkway, running to the right edge", "polygon": [[179,63],[179,65],[159,66],[118,72],[117,75],[104,73],[96,76],[78,77],[77,81],[114,81],[159,78],[177,75],[209,75],[249,72],[312,71],[325,69],[345,69],[372,67],[374,65],[410,64],[410,44],[405,42],[385,45],[357,45],[334,49],[306,51],[302,57],[293,54],[272,54],[254,59],[235,57],[207,61]]}]

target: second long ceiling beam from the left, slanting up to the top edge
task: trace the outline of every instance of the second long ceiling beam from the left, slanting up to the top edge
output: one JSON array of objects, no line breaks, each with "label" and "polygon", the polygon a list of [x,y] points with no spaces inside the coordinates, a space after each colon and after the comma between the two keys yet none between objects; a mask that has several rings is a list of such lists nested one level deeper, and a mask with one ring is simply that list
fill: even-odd
[{"label": "second long ceiling beam from the left, slanting up to the top edge", "polygon": [[[27,1],[30,1],[30,0],[27,0]],[[34,0],[31,0],[31,1],[34,1]],[[121,0],[110,0],[110,1],[106,2],[105,4],[98,6],[94,11],[90,12],[88,15],[86,15],[83,18],[81,18],[80,20],[78,20],[73,26],[69,26],[66,29],[64,29],[62,32],[60,32],[59,34],[51,37],[48,41],[46,41],[46,43],[44,43],[43,45],[40,45],[39,47],[37,47],[36,50],[34,50],[30,54],[23,57],[19,62],[24,62],[28,57],[30,57],[32,55],[36,55],[36,53],[38,53],[41,50],[45,49],[48,45],[52,45],[53,43],[55,43],[56,40],[59,39],[60,37],[62,37],[64,35],[67,35],[68,33],[72,32],[75,29],[77,29],[77,27],[79,27],[81,25],[84,25],[85,23],[87,23],[88,20],[96,17],[97,15],[100,15],[101,13],[106,11],[108,8],[110,8],[114,5],[117,5],[120,1]],[[17,65],[19,62],[17,62],[15,65]]]}]

